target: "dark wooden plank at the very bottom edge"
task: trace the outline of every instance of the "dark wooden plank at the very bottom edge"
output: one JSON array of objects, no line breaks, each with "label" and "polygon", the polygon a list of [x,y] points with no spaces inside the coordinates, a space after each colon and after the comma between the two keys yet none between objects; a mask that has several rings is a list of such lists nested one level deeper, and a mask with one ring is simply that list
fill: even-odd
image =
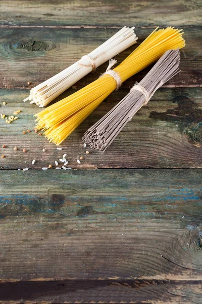
[{"label": "dark wooden plank at the very bottom edge", "polygon": [[[201,281],[68,280],[0,283],[3,303],[200,304]],[[163,300],[162,300],[163,299]]]}]

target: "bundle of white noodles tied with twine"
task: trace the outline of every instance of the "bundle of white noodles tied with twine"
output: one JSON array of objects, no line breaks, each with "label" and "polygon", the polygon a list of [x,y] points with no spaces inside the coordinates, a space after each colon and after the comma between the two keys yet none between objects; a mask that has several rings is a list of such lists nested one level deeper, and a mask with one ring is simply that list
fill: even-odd
[{"label": "bundle of white noodles tied with twine", "polygon": [[36,103],[39,107],[47,105],[97,66],[135,44],[137,37],[134,28],[134,26],[131,28],[124,26],[94,51],[31,89],[29,97],[24,101],[29,100],[30,103]]}]

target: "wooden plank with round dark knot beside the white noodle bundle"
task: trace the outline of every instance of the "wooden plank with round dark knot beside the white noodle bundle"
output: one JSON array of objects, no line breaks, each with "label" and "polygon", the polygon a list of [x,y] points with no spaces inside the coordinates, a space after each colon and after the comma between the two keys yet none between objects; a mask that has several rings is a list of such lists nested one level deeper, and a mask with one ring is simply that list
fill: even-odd
[{"label": "wooden plank with round dark knot beside the white noodle bundle", "polygon": [[[117,56],[118,63],[125,59],[152,31],[151,28],[138,28],[138,43]],[[52,77],[67,66],[73,64],[85,53],[89,53],[105,42],[117,29],[105,28],[0,28],[0,86],[1,88],[30,88]],[[186,47],[181,53],[180,74],[166,86],[198,87],[201,86],[201,38],[200,29],[185,27]],[[108,63],[97,68],[78,82],[82,88],[97,79],[104,72]],[[130,78],[124,87],[140,81],[144,70]],[[31,86],[27,85],[31,83]]]}]

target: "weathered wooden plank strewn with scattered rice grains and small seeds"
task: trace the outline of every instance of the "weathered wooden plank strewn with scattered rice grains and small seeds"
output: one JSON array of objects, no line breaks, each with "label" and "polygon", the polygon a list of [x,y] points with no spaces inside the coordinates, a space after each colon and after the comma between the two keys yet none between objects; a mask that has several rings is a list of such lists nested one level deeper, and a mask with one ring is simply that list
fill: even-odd
[{"label": "weathered wooden plank strewn with scattered rice grains and small seeds", "polygon": [[[68,91],[72,93],[73,89]],[[21,109],[19,119],[12,124],[0,120],[0,141],[7,147],[0,147],[0,165],[3,169],[29,167],[42,168],[67,154],[69,166],[76,169],[96,168],[188,168],[202,167],[201,147],[196,146],[193,132],[189,137],[184,133],[201,122],[202,104],[200,88],[164,88],[156,92],[146,107],[143,107],[105,151],[90,150],[83,147],[81,137],[84,131],[109,111],[127,93],[128,89],[114,92],[103,102],[61,145],[62,151],[55,144],[33,132],[33,115],[39,108],[22,100],[28,90],[1,90],[1,112],[12,115]],[[64,95],[63,95],[64,96]],[[200,125],[199,125],[200,126]],[[31,133],[22,134],[23,130]],[[197,133],[197,132],[196,132]],[[199,134],[199,132],[198,132]],[[201,136],[198,135],[201,142]],[[199,144],[199,142],[198,142]],[[14,147],[19,150],[14,151]],[[27,152],[23,153],[22,149]],[[42,149],[45,148],[45,152]],[[77,159],[83,156],[79,165]],[[35,159],[36,163],[31,164]],[[59,162],[60,163],[60,162]]]}]

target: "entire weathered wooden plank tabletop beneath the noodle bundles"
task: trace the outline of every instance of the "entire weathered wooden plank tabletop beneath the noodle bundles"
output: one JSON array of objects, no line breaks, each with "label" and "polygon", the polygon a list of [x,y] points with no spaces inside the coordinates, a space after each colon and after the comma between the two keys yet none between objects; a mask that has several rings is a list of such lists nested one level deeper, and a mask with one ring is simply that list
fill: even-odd
[{"label": "entire weathered wooden plank tabletop beneath the noodle bundles", "polygon": [[[202,302],[199,3],[1,0],[1,112],[12,115],[21,109],[12,124],[0,120],[5,155],[0,171],[1,303]],[[104,154],[86,155],[81,136],[145,70],[111,94],[57,150],[33,132],[38,108],[22,100],[31,87],[124,25],[136,26],[138,44],[156,25],[183,28],[181,73]],[[118,61],[133,49],[117,56]],[[77,89],[107,65],[82,79]],[[22,134],[27,129],[32,132]],[[64,153],[72,170],[41,170]],[[25,167],[30,169],[17,171]]]}]

